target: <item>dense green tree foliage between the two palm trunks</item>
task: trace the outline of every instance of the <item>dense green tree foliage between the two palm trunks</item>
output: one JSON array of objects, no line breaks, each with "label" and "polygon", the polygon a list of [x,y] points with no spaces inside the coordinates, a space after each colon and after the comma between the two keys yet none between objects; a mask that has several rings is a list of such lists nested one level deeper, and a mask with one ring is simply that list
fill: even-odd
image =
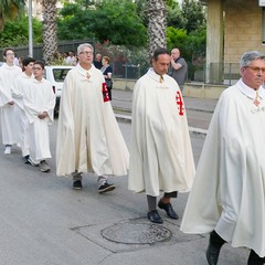
[{"label": "dense green tree foliage between the two palm trunks", "polygon": [[103,0],[97,1],[93,8],[91,4],[84,8],[68,3],[60,15],[60,40],[95,38],[100,43],[108,41],[135,46],[145,44],[147,40],[146,29],[131,1]]}]

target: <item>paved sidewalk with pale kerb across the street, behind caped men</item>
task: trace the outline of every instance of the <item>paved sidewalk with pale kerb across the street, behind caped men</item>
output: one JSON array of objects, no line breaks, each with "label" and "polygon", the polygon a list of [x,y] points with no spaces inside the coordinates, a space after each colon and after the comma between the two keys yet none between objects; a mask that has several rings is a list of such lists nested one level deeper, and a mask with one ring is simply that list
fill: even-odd
[{"label": "paved sidewalk with pale kerb across the street, behind caped men", "polygon": [[[131,121],[131,91],[113,91],[113,108],[116,118]],[[184,97],[189,129],[192,135],[205,137],[218,99]]]}]

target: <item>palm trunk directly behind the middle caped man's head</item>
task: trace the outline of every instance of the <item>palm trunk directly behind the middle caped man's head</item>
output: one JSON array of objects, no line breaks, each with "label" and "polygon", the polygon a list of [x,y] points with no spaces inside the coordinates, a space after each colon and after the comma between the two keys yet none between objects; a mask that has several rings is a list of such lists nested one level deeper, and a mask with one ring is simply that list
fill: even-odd
[{"label": "palm trunk directly behind the middle caped man's head", "polygon": [[148,56],[161,46],[167,46],[166,39],[166,0],[147,0],[148,15]]}]

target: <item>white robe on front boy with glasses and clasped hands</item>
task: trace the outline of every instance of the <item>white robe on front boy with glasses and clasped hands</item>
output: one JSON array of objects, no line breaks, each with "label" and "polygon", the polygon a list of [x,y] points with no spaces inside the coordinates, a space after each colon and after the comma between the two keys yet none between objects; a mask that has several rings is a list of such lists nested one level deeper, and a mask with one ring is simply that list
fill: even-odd
[{"label": "white robe on front boy with glasses and clasped hands", "polygon": [[[51,158],[49,125],[53,123],[55,94],[51,82],[33,80],[23,95],[24,112],[30,123],[29,146],[32,160],[38,163]],[[46,112],[47,117],[40,119],[39,114]]]}]

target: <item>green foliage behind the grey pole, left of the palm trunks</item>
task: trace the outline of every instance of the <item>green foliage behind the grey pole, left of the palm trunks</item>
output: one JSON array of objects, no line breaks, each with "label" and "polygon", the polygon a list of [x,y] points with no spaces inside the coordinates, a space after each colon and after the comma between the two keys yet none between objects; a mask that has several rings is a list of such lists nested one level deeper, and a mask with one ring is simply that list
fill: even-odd
[{"label": "green foliage behind the grey pole, left of the palm trunks", "polygon": [[[19,46],[29,44],[29,18],[20,15],[15,20],[9,20],[0,32],[0,46]],[[33,19],[33,43],[42,43],[42,23]]]}]

